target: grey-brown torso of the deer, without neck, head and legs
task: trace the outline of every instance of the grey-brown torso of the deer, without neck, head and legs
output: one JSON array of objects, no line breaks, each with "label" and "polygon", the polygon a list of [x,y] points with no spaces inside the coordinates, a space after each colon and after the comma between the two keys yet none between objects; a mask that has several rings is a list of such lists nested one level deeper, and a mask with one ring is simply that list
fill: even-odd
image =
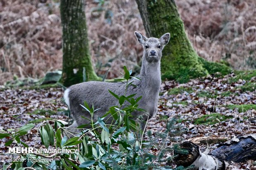
[{"label": "grey-brown torso of the deer, without neck, head and legs", "polygon": [[[140,83],[140,82],[139,82]],[[152,95],[142,84],[137,84],[137,87],[129,86],[126,92],[126,96],[135,94],[134,98],[142,95],[139,107],[147,110],[149,114],[154,114],[157,108],[158,94]],[[69,108],[78,125],[89,123],[88,120],[81,118],[85,116],[88,119],[91,118],[90,114],[81,107],[84,105],[84,101],[88,103],[90,107],[92,104],[95,109],[100,108],[94,113],[94,120],[97,120],[97,116],[102,117],[109,110],[109,107],[119,105],[118,99],[116,99],[108,90],[116,93],[117,95],[124,95],[125,84],[123,83],[109,83],[109,82],[84,82],[70,86],[68,91],[68,99],[64,98],[66,103],[69,103]],[[69,100],[67,102],[67,100]],[[81,104],[81,105],[80,105]],[[135,113],[136,116],[141,113]]]}]

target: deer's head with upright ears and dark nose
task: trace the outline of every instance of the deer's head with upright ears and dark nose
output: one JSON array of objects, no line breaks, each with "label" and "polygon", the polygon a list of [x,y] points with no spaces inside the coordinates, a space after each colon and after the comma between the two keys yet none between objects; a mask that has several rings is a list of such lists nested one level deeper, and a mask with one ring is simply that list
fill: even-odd
[{"label": "deer's head with upright ears and dark nose", "polygon": [[135,31],[134,34],[138,42],[142,44],[144,49],[143,56],[145,56],[147,62],[159,62],[162,57],[162,50],[170,40],[170,33],[165,33],[159,39],[154,37],[147,38],[137,31]]}]

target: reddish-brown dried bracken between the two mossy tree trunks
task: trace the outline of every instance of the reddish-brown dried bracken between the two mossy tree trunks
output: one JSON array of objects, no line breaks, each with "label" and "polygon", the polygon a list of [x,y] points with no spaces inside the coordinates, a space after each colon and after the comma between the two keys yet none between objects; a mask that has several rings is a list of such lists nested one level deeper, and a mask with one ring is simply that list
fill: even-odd
[{"label": "reddish-brown dried bracken between the two mossy tree trunks", "polygon": [[[134,31],[145,33],[135,0],[111,0],[104,5],[95,0],[86,1],[88,36],[91,41],[91,53],[97,64],[97,73],[107,78],[120,76],[123,65],[133,68],[140,61],[142,48],[134,36]],[[102,66],[111,65],[111,68]]]}]

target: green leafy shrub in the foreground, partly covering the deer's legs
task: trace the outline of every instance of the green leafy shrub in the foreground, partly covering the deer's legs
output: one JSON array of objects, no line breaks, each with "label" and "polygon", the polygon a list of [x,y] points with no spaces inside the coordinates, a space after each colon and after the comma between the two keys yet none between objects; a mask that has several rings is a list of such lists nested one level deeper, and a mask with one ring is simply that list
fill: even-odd
[{"label": "green leafy shrub in the foreground, partly covering the deer's legs", "polygon": [[[175,119],[166,122],[164,132],[152,134],[147,131],[147,138],[143,137],[145,129],[140,129],[140,118],[136,121],[133,119],[133,112],[145,112],[139,108],[138,102],[142,98],[139,96],[134,98],[136,94],[126,96],[128,86],[135,86],[131,77],[132,70],[127,70],[124,66],[123,79],[116,81],[126,84],[126,90],[123,95],[117,95],[109,91],[118,101],[119,105],[109,108],[103,117],[97,117],[97,122],[94,122],[94,112],[100,108],[90,107],[87,102],[81,105],[87,110],[90,115],[89,129],[83,129],[85,125],[78,128],[82,129],[79,136],[68,138],[71,133],[68,128],[64,127],[62,121],[51,120],[45,121],[38,127],[42,146],[46,149],[76,149],[73,153],[26,153],[18,154],[20,158],[26,159],[26,166],[35,170],[73,170],[73,169],[91,169],[91,170],[116,170],[116,169],[170,169],[171,167],[164,165],[166,161],[171,161],[172,157],[165,157],[167,152],[178,150],[181,154],[186,154],[187,151],[180,149],[176,145],[167,144],[167,140],[177,141],[177,135],[183,133],[184,129],[175,126]],[[113,121],[109,124],[108,119],[112,117]],[[83,119],[87,119],[83,117]],[[54,122],[54,127],[51,124]],[[147,122],[146,122],[147,123]],[[19,131],[13,134],[2,133],[0,138],[8,137],[10,140],[5,143],[9,146],[13,142],[13,146],[28,147],[24,142],[19,140],[19,136],[26,135],[28,130],[34,127],[33,124],[28,124],[20,128]],[[66,135],[65,135],[66,134]],[[161,139],[159,142],[159,139]],[[29,158],[52,158],[51,161],[33,162]],[[21,170],[24,163],[12,162],[7,167],[12,167],[16,170]],[[183,169],[178,167],[177,169]]]}]

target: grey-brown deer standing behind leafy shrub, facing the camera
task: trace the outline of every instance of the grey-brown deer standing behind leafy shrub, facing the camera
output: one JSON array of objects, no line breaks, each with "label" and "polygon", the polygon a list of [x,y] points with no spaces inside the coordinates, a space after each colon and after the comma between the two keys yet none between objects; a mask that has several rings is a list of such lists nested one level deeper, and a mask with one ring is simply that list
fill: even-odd
[{"label": "grey-brown deer standing behind leafy shrub, facing the camera", "polygon": [[[159,90],[161,86],[160,60],[162,50],[168,44],[170,33],[165,33],[160,38],[145,37],[141,33],[135,31],[137,41],[143,47],[142,66],[140,70],[140,80],[134,80],[136,86],[128,86],[126,95],[135,94],[136,97],[142,96],[137,103],[140,108],[146,112],[136,111],[133,117],[142,116],[144,121],[140,122],[142,129],[145,128],[145,122],[157,112]],[[91,107],[98,109],[93,114],[93,121],[97,121],[97,117],[102,117],[109,111],[109,107],[119,105],[119,101],[109,93],[109,90],[117,95],[123,95],[126,85],[122,82],[83,82],[70,86],[64,91],[64,100],[68,105],[73,116],[73,124],[69,128],[77,128],[80,125],[90,124],[91,115],[83,109],[84,101]],[[81,105],[80,105],[81,104]],[[84,116],[87,119],[83,119]],[[113,120],[113,118],[112,118]],[[108,119],[109,122],[112,121]],[[109,123],[105,122],[105,123]],[[90,125],[86,126],[90,128]],[[75,132],[75,130],[70,130]],[[77,131],[76,131],[77,132]]]}]

